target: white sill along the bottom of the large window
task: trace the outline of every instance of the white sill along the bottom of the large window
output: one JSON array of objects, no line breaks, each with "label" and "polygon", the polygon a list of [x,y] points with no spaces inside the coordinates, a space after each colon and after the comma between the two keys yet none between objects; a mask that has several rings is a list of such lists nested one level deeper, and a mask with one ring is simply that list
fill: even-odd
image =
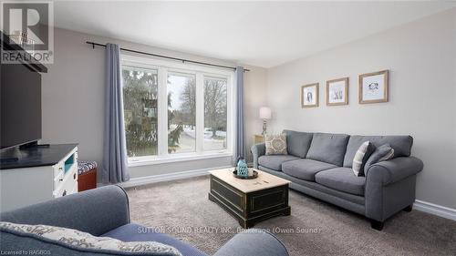
[{"label": "white sill along the bottom of the large window", "polygon": [[204,153],[204,154],[181,154],[181,155],[171,155],[171,156],[160,156],[160,157],[141,157],[137,159],[129,159],[129,167],[137,166],[148,166],[164,163],[173,163],[173,162],[182,162],[182,161],[192,161],[192,160],[201,160],[201,159],[219,159],[233,157],[233,153],[223,152],[223,153]]}]

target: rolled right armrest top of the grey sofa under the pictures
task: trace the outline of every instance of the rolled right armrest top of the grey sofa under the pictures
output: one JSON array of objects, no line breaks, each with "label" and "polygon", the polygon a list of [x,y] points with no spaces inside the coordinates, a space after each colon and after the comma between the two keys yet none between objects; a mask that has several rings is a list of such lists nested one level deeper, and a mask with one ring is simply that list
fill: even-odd
[{"label": "rolled right armrest top of the grey sofa under the pictures", "polygon": [[379,182],[383,185],[388,185],[415,175],[422,169],[423,162],[420,159],[414,157],[396,158],[371,165],[366,170],[366,177],[369,181],[373,181],[369,179],[369,176],[373,176],[375,173]]}]

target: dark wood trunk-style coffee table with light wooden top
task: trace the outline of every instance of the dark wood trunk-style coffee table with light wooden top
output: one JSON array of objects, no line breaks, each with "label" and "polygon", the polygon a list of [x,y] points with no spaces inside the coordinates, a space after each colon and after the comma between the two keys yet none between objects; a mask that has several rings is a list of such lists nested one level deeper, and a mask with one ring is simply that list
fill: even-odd
[{"label": "dark wood trunk-style coffee table with light wooden top", "polygon": [[290,215],[288,184],[290,181],[258,171],[256,179],[236,179],[233,169],[212,170],[209,200],[216,202],[244,228],[261,220]]}]

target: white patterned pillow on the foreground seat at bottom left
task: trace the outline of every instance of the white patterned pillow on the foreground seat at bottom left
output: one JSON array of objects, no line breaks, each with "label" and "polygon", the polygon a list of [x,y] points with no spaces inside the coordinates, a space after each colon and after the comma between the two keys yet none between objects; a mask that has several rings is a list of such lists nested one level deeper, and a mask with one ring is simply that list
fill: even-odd
[{"label": "white patterned pillow on the foreground seat at bottom left", "polygon": [[47,225],[26,225],[0,221],[0,230],[78,251],[110,252],[124,255],[182,256],[181,252],[156,241],[119,241],[109,237],[96,237],[89,233]]}]

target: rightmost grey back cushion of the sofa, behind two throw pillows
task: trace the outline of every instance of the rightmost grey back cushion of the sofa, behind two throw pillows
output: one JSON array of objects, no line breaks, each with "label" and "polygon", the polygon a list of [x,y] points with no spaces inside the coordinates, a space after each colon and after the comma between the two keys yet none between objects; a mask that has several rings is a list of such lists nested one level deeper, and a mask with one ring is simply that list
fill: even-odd
[{"label": "rightmost grey back cushion of the sofa, behind two throw pillows", "polygon": [[353,158],[361,144],[370,141],[376,148],[383,144],[389,144],[394,149],[394,157],[409,157],[413,138],[410,136],[360,136],[353,135],[348,140],[347,152],[344,157],[344,167],[351,168]]}]

